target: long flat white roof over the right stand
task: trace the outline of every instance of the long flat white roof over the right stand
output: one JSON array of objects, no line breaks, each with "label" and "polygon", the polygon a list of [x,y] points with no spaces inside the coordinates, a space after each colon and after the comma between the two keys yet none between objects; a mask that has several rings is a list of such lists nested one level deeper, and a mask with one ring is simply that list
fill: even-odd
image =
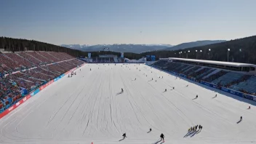
[{"label": "long flat white roof over the right stand", "polygon": [[[161,59],[164,60],[164,59]],[[183,60],[193,63],[207,63],[212,65],[228,65],[234,67],[255,67],[256,65],[249,64],[249,63],[232,63],[232,62],[221,62],[221,61],[213,61],[213,60],[193,60],[193,59],[185,59],[185,58],[176,58],[176,57],[169,57],[169,60]]]}]

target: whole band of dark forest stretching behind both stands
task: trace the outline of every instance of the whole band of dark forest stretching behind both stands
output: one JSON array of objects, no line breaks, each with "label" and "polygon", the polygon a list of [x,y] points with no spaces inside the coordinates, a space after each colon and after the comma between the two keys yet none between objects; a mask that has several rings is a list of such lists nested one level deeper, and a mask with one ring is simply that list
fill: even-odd
[{"label": "whole band of dark forest stretching behind both stands", "polygon": [[[27,39],[12,39],[7,37],[0,37],[0,49],[9,52],[17,51],[53,51],[53,52],[66,52],[74,57],[87,57],[88,53],[92,57],[99,55],[117,55],[121,56],[120,52],[100,51],[100,52],[82,52],[77,49],[69,49],[60,47],[54,44],[47,44],[40,41],[27,40]],[[230,49],[230,51],[228,51]],[[111,50],[111,49],[109,49]],[[197,51],[197,52],[196,52]],[[229,61],[236,63],[252,63],[256,64],[256,36],[249,36],[243,39],[234,39],[225,41],[218,44],[209,44],[202,47],[191,47],[188,49],[169,50],[169,51],[154,51],[143,52],[135,54],[132,52],[124,52],[124,57],[129,59],[140,59],[146,55],[156,55],[156,60],[165,57],[180,57],[199,60],[217,60]]]}]

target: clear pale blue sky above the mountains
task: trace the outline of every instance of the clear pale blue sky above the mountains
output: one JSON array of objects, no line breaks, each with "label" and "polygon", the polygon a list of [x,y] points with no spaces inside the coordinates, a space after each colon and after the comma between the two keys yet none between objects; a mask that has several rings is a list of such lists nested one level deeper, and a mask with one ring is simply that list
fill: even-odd
[{"label": "clear pale blue sky above the mountains", "polygon": [[180,44],[256,34],[255,0],[6,0],[0,36],[51,44]]}]

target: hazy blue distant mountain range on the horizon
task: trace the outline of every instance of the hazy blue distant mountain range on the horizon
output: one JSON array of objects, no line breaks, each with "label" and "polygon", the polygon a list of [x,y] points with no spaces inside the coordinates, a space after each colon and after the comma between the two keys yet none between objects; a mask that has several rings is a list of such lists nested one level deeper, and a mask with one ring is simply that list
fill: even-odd
[{"label": "hazy blue distant mountain range on the horizon", "polygon": [[62,47],[68,47],[71,49],[79,49],[84,52],[97,52],[103,51],[107,48],[108,51],[112,52],[133,52],[133,53],[142,53],[142,52],[152,52],[152,51],[163,51],[163,50],[177,50],[177,49],[186,49],[190,47],[200,47],[208,44],[216,44],[223,42],[224,40],[216,41],[192,41],[183,44],[178,44],[172,46],[170,44],[97,44],[97,45],[80,45],[80,44],[61,44]]}]

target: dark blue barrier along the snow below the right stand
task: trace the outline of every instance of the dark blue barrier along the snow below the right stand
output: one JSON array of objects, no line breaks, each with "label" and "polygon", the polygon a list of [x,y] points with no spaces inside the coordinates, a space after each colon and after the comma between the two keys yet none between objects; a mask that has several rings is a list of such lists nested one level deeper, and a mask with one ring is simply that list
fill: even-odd
[{"label": "dark blue barrier along the snow below the right stand", "polygon": [[[157,69],[159,69],[159,70],[161,70],[161,71],[164,71],[164,70],[162,70],[161,68],[158,68],[158,67],[153,66],[153,65],[148,65],[148,66],[151,66],[151,67],[153,67],[153,68],[157,68]],[[184,75],[184,74],[181,74],[181,73],[175,73],[175,72],[173,72],[173,71],[165,71],[165,72],[167,72],[167,73],[172,73],[172,74],[175,74],[175,75],[177,75],[177,76],[181,76],[181,77],[183,77],[183,78],[185,78],[185,79],[190,79],[190,80],[192,80],[192,81],[196,81],[195,78],[193,78],[193,77],[188,77],[188,76],[186,76],[186,75]],[[217,85],[215,85],[215,84],[209,83],[209,82],[207,82],[207,81],[196,81],[196,82],[199,82],[200,84],[204,84],[204,85],[206,85],[206,86],[208,86],[208,87],[212,87],[212,88],[215,88],[215,89],[220,89],[220,90],[222,90],[223,92],[228,92],[228,93],[230,93],[230,94],[232,94],[232,95],[236,95],[236,96],[239,96],[239,97],[244,97],[244,98],[246,98],[246,99],[248,99],[248,100],[256,101],[256,96],[254,96],[254,95],[248,95],[248,94],[245,94],[245,93],[243,93],[243,92],[239,92],[239,91],[236,91],[236,90],[233,90],[233,89],[228,89],[228,88],[226,88],[226,87],[220,87],[220,86],[217,86]]]}]

